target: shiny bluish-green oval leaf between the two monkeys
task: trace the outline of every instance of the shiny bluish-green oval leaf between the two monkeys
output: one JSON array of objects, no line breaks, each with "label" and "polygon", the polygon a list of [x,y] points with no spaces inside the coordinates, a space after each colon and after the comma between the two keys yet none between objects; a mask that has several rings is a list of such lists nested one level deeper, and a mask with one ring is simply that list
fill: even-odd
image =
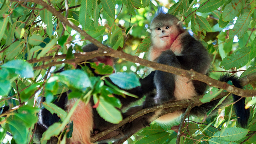
[{"label": "shiny bluish-green oval leaf between the two monkeys", "polygon": [[140,86],[140,81],[134,73],[115,73],[109,78],[120,88],[131,89]]}]

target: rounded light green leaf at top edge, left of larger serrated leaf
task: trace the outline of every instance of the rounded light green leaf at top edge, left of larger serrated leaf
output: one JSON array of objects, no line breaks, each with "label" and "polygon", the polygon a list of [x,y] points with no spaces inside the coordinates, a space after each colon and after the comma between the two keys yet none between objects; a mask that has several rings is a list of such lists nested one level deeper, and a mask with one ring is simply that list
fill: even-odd
[{"label": "rounded light green leaf at top edge, left of larger serrated leaf", "polygon": [[227,4],[222,12],[222,19],[224,22],[233,20],[242,9],[242,0],[232,0]]}]

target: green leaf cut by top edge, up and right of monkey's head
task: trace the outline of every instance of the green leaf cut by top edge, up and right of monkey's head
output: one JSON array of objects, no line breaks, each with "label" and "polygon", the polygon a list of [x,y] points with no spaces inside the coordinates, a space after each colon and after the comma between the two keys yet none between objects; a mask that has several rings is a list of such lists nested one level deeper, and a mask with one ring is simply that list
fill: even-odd
[{"label": "green leaf cut by top edge, up and right of monkey's head", "polygon": [[[196,10],[197,12],[212,12],[214,10],[216,10],[217,8],[219,8],[220,6],[222,6],[222,4],[224,4],[225,0],[210,0],[209,2],[207,1],[204,2],[202,5],[202,7],[198,8],[198,10]],[[205,4],[206,3],[206,4]]]}]

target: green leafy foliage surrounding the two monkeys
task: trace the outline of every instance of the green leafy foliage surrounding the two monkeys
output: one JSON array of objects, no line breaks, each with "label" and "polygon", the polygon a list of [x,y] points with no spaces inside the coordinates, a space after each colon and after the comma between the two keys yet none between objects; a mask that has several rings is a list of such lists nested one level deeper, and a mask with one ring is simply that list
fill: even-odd
[{"label": "green leafy foliage surrounding the two monkeys", "polygon": [[[86,66],[82,66],[82,70],[75,70],[75,54],[82,52],[82,45],[89,44],[92,39],[84,38],[67,23],[60,21],[51,11],[38,4],[39,1],[42,0],[0,0],[0,142],[3,143],[10,143],[8,134],[12,134],[13,144],[32,143],[40,109],[36,106],[37,97],[45,97],[46,101],[42,103],[44,108],[56,113],[62,120],[50,126],[41,142],[46,143],[51,136],[59,136],[60,133],[64,138],[69,137],[62,130],[69,123],[72,111],[66,113],[52,103],[67,90],[72,90],[69,99],[78,98],[88,102],[93,96],[100,116],[108,122],[119,123],[122,116],[117,108],[121,104],[112,94],[134,96],[124,89],[139,86],[138,77],[148,74],[148,68],[140,65],[139,60],[134,64],[125,61],[125,58],[119,59],[115,66],[116,71],[121,73],[112,74],[112,67],[95,63],[91,63],[91,67],[104,76],[93,76]],[[210,77],[218,79],[224,69],[237,72],[241,77],[256,72],[256,0],[43,1],[92,38],[114,50],[140,58],[151,44],[146,28],[158,7],[162,7],[169,14],[177,16],[186,29],[208,48],[213,58]],[[47,59],[49,56],[52,58]],[[66,71],[53,73],[63,66]],[[106,77],[116,85],[108,82]],[[255,83],[246,88],[254,89]],[[202,98],[202,102],[210,101],[220,92],[213,88]],[[246,103],[251,111],[247,128],[236,125],[232,104],[227,104],[222,112],[219,110],[218,116],[203,120],[187,119],[180,143],[255,143],[256,100],[247,98]],[[2,113],[4,106],[9,106],[9,110]],[[178,124],[151,124],[128,142],[173,144]],[[65,139],[62,140],[64,142]]]}]

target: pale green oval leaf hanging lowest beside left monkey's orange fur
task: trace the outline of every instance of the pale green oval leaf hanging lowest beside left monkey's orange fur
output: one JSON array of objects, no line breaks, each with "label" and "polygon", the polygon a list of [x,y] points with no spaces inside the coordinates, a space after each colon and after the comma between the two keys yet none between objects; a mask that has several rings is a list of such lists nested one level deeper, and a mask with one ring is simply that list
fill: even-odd
[{"label": "pale green oval leaf hanging lowest beside left monkey's orange fur", "polygon": [[[93,100],[95,104],[98,102],[98,98],[96,98],[95,96],[93,96]],[[108,122],[118,124],[122,121],[121,112],[117,110],[114,106],[106,102],[102,97],[100,97],[99,105],[96,109],[100,116]]]}]

